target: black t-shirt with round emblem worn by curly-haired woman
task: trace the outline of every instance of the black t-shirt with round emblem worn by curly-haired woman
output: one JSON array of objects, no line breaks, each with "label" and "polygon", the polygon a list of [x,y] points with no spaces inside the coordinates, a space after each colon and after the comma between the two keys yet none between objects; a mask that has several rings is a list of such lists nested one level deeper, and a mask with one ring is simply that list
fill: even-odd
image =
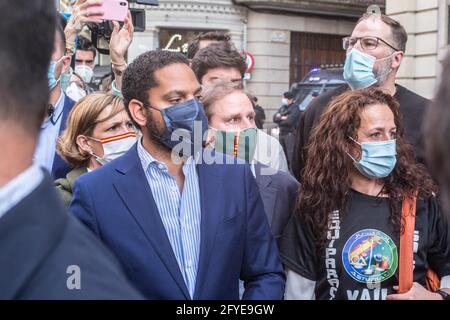
[{"label": "black t-shirt with round emblem worn by curly-haired woman", "polygon": [[[389,222],[386,198],[352,191],[348,212],[330,215],[325,248],[299,214],[291,217],[280,243],[282,262],[315,281],[316,299],[381,300],[398,285],[400,236]],[[414,281],[425,284],[429,266],[450,275],[450,224],[436,198],[418,200],[414,233]]]}]

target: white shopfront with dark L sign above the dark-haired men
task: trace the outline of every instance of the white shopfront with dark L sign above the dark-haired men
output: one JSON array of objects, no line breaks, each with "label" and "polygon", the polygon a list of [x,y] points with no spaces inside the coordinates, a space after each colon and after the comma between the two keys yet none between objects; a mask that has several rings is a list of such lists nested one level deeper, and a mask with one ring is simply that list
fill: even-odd
[{"label": "white shopfront with dark L sign above the dark-haired men", "polygon": [[145,10],[146,30],[136,32],[129,59],[156,48],[185,52],[189,38],[202,31],[223,30],[244,49],[247,9],[229,0],[160,0],[159,6],[132,5]]}]

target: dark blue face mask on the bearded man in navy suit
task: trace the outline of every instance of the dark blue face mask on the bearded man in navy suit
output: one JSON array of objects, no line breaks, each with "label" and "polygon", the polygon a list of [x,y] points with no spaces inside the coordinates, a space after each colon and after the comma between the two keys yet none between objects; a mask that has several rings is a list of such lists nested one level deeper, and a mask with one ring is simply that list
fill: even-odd
[{"label": "dark blue face mask on the bearded man in navy suit", "polygon": [[[166,130],[157,138],[166,147],[172,150],[182,143],[182,150],[190,149],[191,155],[203,147],[205,133],[208,130],[208,118],[203,104],[196,98],[162,110],[152,106],[150,108],[158,110],[163,116]],[[200,143],[196,144],[196,141]],[[194,149],[194,146],[197,148]]]}]

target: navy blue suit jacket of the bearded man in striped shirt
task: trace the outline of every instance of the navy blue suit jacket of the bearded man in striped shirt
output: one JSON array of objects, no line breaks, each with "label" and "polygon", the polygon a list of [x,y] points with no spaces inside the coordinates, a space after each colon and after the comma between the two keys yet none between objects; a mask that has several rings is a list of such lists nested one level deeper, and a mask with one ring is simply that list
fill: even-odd
[{"label": "navy blue suit jacket of the bearded man in striped shirt", "polygon": [[[194,299],[238,299],[239,278],[246,282],[244,299],[281,299],[284,273],[250,167],[204,163],[197,172],[201,244]],[[81,176],[70,211],[112,249],[146,298],[190,299],[136,145]]]}]

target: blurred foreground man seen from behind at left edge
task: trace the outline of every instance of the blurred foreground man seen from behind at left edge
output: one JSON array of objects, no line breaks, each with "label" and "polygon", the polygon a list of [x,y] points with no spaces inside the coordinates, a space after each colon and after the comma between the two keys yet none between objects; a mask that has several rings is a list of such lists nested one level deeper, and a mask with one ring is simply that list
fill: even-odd
[{"label": "blurred foreground man seen from behind at left edge", "polygon": [[140,299],[32,163],[55,25],[54,1],[0,0],[0,300]]}]

